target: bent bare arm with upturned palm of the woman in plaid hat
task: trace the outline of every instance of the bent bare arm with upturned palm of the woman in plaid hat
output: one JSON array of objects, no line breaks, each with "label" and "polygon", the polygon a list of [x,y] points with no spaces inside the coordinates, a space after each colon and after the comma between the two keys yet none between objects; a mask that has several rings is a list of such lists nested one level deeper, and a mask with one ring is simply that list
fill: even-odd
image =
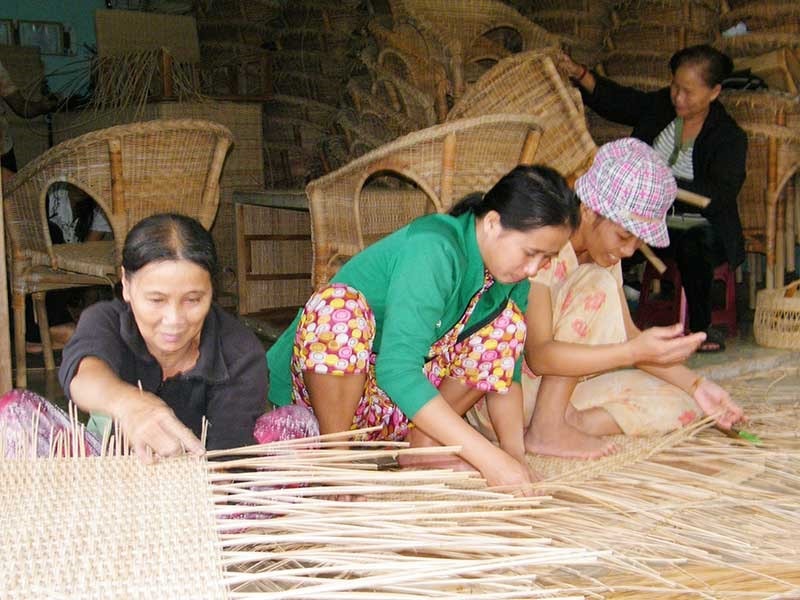
[{"label": "bent bare arm with upturned palm of the woman in plaid hat", "polygon": [[[530,294],[525,314],[528,325],[525,360],[537,375],[582,377],[640,362],[671,364],[685,360],[702,343],[698,336],[681,336],[676,326],[653,327],[617,344],[560,342],[553,338],[550,290],[545,285],[533,282]],[[624,298],[622,306],[627,313]],[[627,315],[630,319],[630,313]]]}]

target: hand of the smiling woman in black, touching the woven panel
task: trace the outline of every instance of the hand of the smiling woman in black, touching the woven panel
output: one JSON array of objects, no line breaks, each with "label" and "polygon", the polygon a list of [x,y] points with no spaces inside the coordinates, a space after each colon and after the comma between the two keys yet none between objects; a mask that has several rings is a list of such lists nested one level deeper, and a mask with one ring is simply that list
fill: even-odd
[{"label": "hand of the smiling woman in black, touching the woven panel", "polygon": [[199,456],[205,452],[191,429],[155,394],[136,390],[116,404],[114,417],[136,456],[146,464],[158,457],[177,456],[183,452]]}]

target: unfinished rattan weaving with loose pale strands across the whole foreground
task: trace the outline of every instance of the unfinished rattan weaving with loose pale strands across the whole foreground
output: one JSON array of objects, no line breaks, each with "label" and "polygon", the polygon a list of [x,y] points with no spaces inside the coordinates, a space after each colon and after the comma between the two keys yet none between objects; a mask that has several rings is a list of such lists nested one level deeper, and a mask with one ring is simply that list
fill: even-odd
[{"label": "unfinished rattan weaving with loose pale strands across the whole foreground", "polygon": [[533,497],[487,489],[472,471],[396,468],[452,448],[349,449],[350,433],[155,468],[124,456],[0,461],[0,530],[14,542],[0,596],[88,598],[102,581],[100,595],[133,597],[135,572],[136,597],[166,598],[191,562],[202,592],[172,597],[798,597],[799,373],[726,382],[757,444],[704,421],[619,438],[600,461],[537,457]]}]

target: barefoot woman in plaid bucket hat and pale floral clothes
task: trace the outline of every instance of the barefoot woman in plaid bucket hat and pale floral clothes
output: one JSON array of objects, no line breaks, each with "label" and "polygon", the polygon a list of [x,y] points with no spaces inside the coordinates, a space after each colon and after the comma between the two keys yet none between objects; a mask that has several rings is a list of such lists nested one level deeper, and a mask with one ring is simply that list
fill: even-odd
[{"label": "barefoot woman in plaid bucket hat and pale floral clothes", "polygon": [[[527,451],[603,456],[614,446],[601,436],[669,431],[704,413],[731,427],[742,410],[724,389],[681,364],[706,334],[684,336],[680,324],[639,331],[622,292],[620,260],[641,242],[669,244],[665,217],[676,185],[666,163],[644,142],[617,140],[600,148],[575,191],[581,224],[531,279]],[[485,406],[468,416],[493,437]]]}]

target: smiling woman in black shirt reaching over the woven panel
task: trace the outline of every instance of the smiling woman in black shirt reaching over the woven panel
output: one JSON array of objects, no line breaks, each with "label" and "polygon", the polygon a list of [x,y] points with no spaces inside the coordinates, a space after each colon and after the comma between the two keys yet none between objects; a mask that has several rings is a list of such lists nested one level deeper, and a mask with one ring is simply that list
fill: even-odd
[{"label": "smiling woman in black shirt reaching over the woven panel", "polygon": [[119,421],[145,461],[151,451],[201,453],[203,417],[209,449],[254,443],[266,410],[264,349],[213,304],[216,269],[211,235],[197,221],[144,219],[125,240],[125,302],[86,309],[64,348],[59,379],[92,413],[90,430],[102,435],[108,417]]}]

